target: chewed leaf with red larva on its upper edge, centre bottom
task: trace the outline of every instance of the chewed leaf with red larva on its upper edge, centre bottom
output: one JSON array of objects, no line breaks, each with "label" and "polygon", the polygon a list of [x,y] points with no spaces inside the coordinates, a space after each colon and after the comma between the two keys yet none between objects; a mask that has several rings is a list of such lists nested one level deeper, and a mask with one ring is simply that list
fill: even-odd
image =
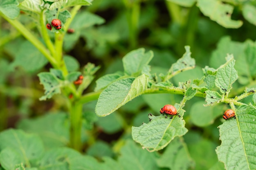
[{"label": "chewed leaf with red larva on its upper edge, centre bottom", "polygon": [[132,126],[132,139],[140,143],[143,148],[153,152],[166,147],[176,136],[184,135],[188,130],[184,127],[185,121],[182,120],[184,110],[178,109],[179,107],[178,104],[175,104],[181,118],[149,114],[150,122],[148,124],[142,124],[139,127]]}]

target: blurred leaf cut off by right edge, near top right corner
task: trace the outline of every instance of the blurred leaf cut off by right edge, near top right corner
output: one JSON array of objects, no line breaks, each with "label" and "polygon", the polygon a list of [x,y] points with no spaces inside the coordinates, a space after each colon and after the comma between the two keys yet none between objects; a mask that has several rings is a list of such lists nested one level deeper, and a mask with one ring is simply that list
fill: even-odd
[{"label": "blurred leaf cut off by right edge, near top right corner", "polygon": [[256,18],[254,17],[256,15],[256,7],[247,3],[243,5],[243,16],[247,21],[249,21],[251,24],[256,25]]}]

